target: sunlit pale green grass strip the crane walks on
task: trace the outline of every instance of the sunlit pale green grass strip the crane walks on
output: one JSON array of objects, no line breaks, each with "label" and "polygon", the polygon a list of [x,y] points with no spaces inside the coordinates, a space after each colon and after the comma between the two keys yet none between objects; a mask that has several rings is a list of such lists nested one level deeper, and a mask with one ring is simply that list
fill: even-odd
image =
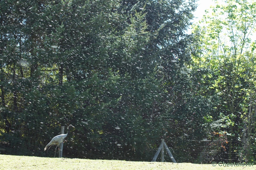
[{"label": "sunlit pale green grass strip the crane walks on", "polygon": [[212,166],[209,164],[191,164],[191,163],[169,163],[169,162],[132,162],[121,160],[90,160],[90,159],[69,159],[69,158],[42,158],[42,157],[28,157],[28,156],[12,156],[0,155],[0,169],[255,169],[255,166],[245,167],[223,167]]}]

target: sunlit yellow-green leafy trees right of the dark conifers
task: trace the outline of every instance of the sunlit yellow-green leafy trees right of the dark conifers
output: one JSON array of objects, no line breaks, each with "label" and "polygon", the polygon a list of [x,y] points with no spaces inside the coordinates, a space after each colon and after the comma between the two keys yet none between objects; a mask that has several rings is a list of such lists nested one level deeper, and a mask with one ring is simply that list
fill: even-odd
[{"label": "sunlit yellow-green leafy trees right of the dark conifers", "polygon": [[229,162],[255,160],[255,5],[254,1],[226,0],[212,7],[204,26],[195,27],[200,41],[194,69],[208,70],[204,93],[218,95],[211,130],[220,138],[226,136],[222,152]]}]

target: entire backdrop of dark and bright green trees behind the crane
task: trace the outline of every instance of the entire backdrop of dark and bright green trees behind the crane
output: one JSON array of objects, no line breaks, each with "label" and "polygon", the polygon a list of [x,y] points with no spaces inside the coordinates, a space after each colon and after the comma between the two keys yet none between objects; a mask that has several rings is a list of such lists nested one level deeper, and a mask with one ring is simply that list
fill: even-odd
[{"label": "entire backdrop of dark and bright green trees behind the crane", "polygon": [[0,153],[50,156],[72,124],[67,157],[150,161],[165,139],[177,162],[254,161],[254,9],[189,34],[194,0],[1,1]]}]

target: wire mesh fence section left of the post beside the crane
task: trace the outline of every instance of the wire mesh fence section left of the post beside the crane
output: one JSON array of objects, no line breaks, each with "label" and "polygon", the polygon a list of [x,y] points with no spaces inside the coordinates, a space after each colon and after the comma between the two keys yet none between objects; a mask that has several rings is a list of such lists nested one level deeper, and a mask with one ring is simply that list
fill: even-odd
[{"label": "wire mesh fence section left of the post beside the crane", "polygon": [[0,154],[44,156],[40,142],[45,140],[44,118],[3,108],[1,118]]}]

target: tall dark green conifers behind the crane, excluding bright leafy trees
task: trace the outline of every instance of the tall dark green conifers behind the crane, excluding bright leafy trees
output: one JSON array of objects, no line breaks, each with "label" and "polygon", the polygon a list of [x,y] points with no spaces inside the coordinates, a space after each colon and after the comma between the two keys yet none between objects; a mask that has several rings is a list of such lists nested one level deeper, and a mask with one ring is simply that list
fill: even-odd
[{"label": "tall dark green conifers behind the crane, excluding bright leafy trees", "polygon": [[183,71],[195,9],[183,0],[1,2],[3,141],[24,115],[44,118],[45,135],[29,141],[38,148],[74,125],[70,145],[82,158],[150,160],[161,138],[174,144],[170,125],[187,122],[177,110],[194,95]]}]

